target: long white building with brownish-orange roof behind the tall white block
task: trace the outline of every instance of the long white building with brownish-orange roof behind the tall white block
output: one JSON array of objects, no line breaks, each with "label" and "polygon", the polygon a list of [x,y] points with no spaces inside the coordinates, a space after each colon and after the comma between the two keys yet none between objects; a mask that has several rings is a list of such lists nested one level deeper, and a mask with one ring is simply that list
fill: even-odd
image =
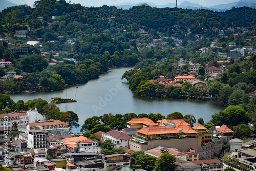
[{"label": "long white building with brownish-orange roof behind the tall white block", "polygon": [[38,121],[27,124],[27,130],[32,130],[36,126],[40,126],[42,130],[47,131],[47,139],[54,137],[70,137],[70,127],[68,122],[53,119],[47,121]]}]

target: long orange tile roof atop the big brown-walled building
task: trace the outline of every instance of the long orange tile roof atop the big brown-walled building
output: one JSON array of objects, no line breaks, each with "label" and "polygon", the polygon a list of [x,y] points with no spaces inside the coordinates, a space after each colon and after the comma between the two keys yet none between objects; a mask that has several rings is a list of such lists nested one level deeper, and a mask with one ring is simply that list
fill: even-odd
[{"label": "long orange tile roof atop the big brown-walled building", "polygon": [[142,127],[142,129],[137,132],[144,135],[180,133],[174,127],[170,127],[170,126]]}]

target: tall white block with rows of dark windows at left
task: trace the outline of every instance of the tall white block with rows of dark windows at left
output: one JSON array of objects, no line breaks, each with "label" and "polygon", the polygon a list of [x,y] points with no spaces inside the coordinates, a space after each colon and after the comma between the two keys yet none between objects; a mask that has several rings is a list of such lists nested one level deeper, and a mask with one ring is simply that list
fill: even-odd
[{"label": "tall white block with rows of dark windows at left", "polygon": [[30,148],[46,148],[47,132],[41,130],[39,126],[33,127],[28,133],[28,147]]}]

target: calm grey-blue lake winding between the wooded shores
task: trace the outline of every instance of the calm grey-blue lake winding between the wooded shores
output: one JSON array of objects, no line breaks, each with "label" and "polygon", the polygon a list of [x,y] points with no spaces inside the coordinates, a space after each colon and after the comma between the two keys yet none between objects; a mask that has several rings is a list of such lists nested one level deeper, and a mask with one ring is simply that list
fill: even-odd
[{"label": "calm grey-blue lake winding between the wooded shores", "polygon": [[121,80],[122,74],[132,68],[115,68],[108,73],[101,74],[98,79],[90,80],[86,84],[68,88],[67,91],[11,94],[10,97],[18,100],[33,100],[41,98],[51,101],[53,97],[73,98],[75,103],[57,104],[60,111],[73,111],[79,117],[80,126],[89,117],[101,116],[105,113],[149,114],[160,113],[168,115],[180,112],[183,115],[194,114],[196,119],[203,118],[205,122],[211,119],[211,115],[223,111],[212,101],[199,101],[191,99],[160,99],[142,98],[134,96],[129,89],[127,81]]}]

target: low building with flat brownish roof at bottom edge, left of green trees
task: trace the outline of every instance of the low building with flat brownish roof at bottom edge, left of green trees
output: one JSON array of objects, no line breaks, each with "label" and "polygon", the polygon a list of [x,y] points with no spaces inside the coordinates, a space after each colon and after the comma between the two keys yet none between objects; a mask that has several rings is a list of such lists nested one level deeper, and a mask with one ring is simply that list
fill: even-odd
[{"label": "low building with flat brownish roof at bottom edge, left of green trees", "polygon": [[130,155],[128,154],[114,154],[104,156],[104,168],[113,167],[117,165],[123,165],[130,167]]}]

